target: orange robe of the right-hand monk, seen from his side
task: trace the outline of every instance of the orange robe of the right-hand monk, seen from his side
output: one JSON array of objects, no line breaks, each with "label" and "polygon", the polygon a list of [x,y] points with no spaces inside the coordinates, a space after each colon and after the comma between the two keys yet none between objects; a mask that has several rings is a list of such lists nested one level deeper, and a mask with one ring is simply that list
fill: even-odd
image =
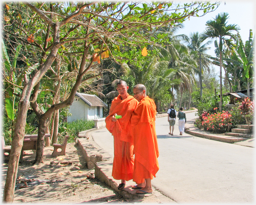
[{"label": "orange robe of the right-hand monk, seen from his side", "polygon": [[155,115],[155,102],[147,96],[140,100],[130,119],[134,133],[133,181],[137,184],[144,182],[146,178],[153,179],[159,170]]}]

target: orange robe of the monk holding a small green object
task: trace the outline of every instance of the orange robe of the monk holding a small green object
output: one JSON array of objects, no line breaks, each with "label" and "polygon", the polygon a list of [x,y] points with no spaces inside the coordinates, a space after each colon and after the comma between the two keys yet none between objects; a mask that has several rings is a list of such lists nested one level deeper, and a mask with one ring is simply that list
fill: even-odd
[{"label": "orange robe of the monk holding a small green object", "polygon": [[[126,99],[121,96],[114,98],[110,107],[110,113],[106,117],[106,128],[114,136],[114,161],[112,176],[114,179],[126,181],[133,178],[133,135],[130,127],[130,117],[137,108],[139,102],[128,94]],[[112,121],[112,116],[117,113],[122,118],[117,122]]]}]

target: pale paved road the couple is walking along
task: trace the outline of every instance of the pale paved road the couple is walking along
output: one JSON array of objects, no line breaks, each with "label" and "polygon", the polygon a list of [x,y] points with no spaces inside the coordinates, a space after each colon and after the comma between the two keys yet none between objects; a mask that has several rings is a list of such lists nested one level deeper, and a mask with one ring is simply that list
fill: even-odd
[{"label": "pale paved road the couple is walking along", "polygon": [[[187,121],[195,118],[187,113]],[[156,119],[160,170],[152,185],[178,203],[254,202],[254,148],[217,142],[184,133],[168,135],[167,117]],[[113,138],[106,128],[92,134],[113,155]]]}]

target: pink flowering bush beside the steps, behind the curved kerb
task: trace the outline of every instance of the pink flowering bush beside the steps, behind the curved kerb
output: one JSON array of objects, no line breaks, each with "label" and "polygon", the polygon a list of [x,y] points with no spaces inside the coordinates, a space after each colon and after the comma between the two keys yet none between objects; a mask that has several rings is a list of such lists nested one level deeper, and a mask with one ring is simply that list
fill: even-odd
[{"label": "pink flowering bush beside the steps, behind the curved kerb", "polygon": [[232,128],[231,114],[228,111],[205,115],[202,120],[203,128],[214,133],[229,132]]}]

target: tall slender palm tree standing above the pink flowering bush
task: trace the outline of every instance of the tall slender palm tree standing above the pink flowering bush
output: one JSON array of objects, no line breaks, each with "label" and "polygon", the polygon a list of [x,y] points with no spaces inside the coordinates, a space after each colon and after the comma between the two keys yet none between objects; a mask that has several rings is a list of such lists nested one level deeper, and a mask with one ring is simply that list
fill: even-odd
[{"label": "tall slender palm tree standing above the pink flowering bush", "polygon": [[225,36],[230,36],[235,39],[235,35],[232,31],[240,30],[240,27],[236,24],[227,25],[228,13],[221,13],[216,16],[214,20],[208,20],[206,22],[206,31],[201,34],[201,40],[204,41],[207,38],[219,38],[219,81],[220,81],[220,105],[219,110],[222,110],[222,45]]}]

